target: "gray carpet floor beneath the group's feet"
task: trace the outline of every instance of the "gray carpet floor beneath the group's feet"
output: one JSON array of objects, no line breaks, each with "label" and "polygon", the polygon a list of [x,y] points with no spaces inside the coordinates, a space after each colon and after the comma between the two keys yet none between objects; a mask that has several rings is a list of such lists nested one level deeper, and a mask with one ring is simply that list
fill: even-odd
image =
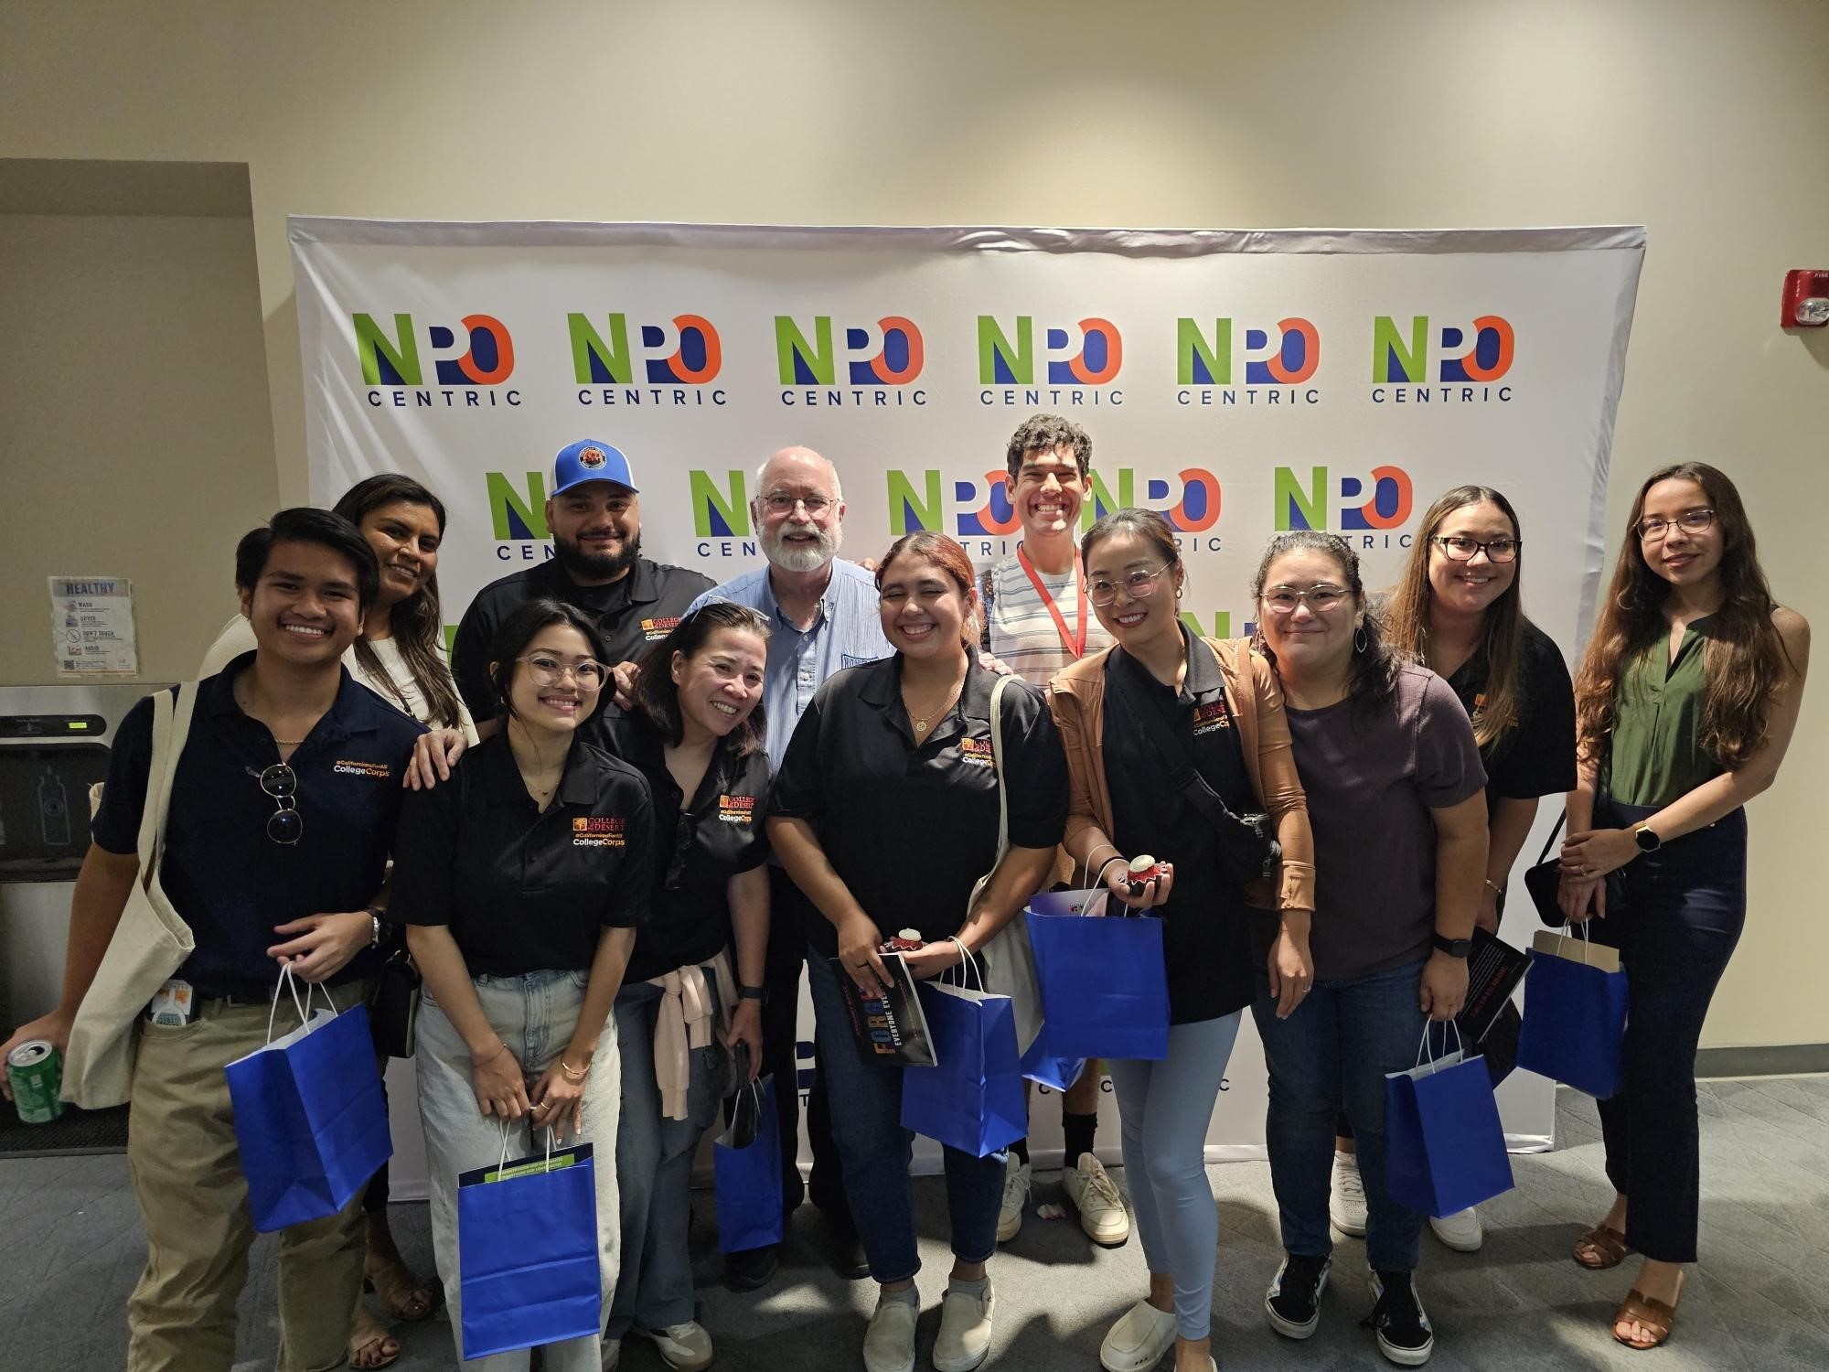
[{"label": "gray carpet floor beneath the group's feet", "polygon": [[[1558,1142],[1549,1154],[1513,1160],[1518,1185],[1481,1207],[1480,1253],[1450,1253],[1427,1233],[1419,1292],[1436,1324],[1430,1367],[1509,1368],[1829,1368],[1829,1077],[1703,1083],[1703,1260],[1690,1271],[1672,1343],[1639,1356],[1608,1335],[1633,1260],[1586,1273],[1569,1260],[1575,1235],[1608,1204],[1593,1101],[1560,1092]],[[1264,1286],[1275,1273],[1275,1204],[1264,1163],[1209,1169],[1220,1207],[1213,1339],[1225,1368],[1385,1367],[1359,1328],[1370,1308],[1363,1248],[1341,1238],[1321,1330],[1304,1345],[1264,1323]],[[1114,1173],[1123,1185],[1123,1173]],[[1059,1195],[1054,1174],[1037,1204]],[[938,1328],[946,1284],[946,1196],[938,1178],[916,1182],[925,1270],[920,1357]],[[781,1275],[763,1292],[717,1284],[719,1259],[699,1206],[701,1321],[717,1339],[721,1368],[858,1368],[869,1282],[847,1282],[821,1257],[823,1229],[803,1207]],[[397,1206],[393,1224],[408,1259],[430,1268],[424,1206]],[[119,1368],[124,1302],[144,1259],[126,1163],[104,1158],[0,1158],[0,1368]],[[1072,1220],[1033,1209],[991,1266],[999,1372],[1097,1368],[1099,1339],[1143,1293],[1143,1253],[1132,1238],[1096,1249]],[[401,1326],[397,1368],[454,1365],[443,1315]],[[241,1299],[240,1368],[271,1368],[276,1346],[271,1240],[254,1249]],[[664,1372],[655,1348],[631,1339],[627,1372]]]}]

